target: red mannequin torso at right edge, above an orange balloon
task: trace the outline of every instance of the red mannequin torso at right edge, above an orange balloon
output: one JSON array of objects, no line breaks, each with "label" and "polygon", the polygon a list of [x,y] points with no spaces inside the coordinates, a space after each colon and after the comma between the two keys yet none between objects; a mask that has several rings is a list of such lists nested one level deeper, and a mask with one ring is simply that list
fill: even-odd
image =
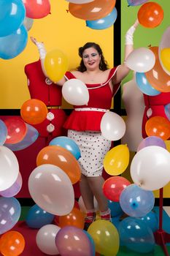
[{"label": "red mannequin torso at right edge, above an orange balloon", "polygon": [[[167,118],[164,107],[170,103],[170,92],[161,92],[156,96],[148,96],[144,94],[144,116],[142,121],[142,136],[147,137],[145,132],[145,124],[152,116],[163,116]],[[168,118],[167,118],[168,119]]]}]

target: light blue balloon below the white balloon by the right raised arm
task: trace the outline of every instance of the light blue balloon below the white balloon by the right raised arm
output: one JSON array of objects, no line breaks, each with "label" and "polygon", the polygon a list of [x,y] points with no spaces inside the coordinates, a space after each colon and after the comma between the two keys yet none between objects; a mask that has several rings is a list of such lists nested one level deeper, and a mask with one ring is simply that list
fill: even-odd
[{"label": "light blue balloon below the white balloon by the right raised arm", "polygon": [[150,85],[146,75],[142,72],[136,72],[136,84],[143,94],[147,94],[149,96],[161,94],[161,91],[156,90]]}]

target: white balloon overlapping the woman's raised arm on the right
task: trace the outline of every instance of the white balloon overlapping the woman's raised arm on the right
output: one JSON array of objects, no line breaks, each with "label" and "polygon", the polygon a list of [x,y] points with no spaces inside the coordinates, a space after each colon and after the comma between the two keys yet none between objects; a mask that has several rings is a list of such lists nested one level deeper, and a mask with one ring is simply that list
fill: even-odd
[{"label": "white balloon overlapping the woman's raised arm on the right", "polygon": [[136,72],[147,72],[155,64],[155,55],[150,49],[137,48],[128,55],[125,64]]}]

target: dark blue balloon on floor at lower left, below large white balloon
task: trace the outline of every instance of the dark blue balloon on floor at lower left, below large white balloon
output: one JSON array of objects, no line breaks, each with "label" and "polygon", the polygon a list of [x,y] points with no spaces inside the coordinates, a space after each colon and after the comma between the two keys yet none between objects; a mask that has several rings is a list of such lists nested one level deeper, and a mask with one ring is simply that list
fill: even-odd
[{"label": "dark blue balloon on floor at lower left, below large white balloon", "polygon": [[40,228],[53,222],[55,215],[48,213],[36,204],[32,206],[26,216],[28,227]]}]

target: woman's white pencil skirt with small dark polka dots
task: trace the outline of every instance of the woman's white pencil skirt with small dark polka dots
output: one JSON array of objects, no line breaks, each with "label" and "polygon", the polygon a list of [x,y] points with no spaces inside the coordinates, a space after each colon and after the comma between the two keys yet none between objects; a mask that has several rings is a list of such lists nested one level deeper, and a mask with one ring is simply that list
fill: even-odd
[{"label": "woman's white pencil skirt with small dark polka dots", "polygon": [[68,130],[68,137],[77,143],[81,151],[78,160],[85,176],[101,176],[104,156],[111,147],[111,141],[101,135],[101,132],[78,132]]}]

